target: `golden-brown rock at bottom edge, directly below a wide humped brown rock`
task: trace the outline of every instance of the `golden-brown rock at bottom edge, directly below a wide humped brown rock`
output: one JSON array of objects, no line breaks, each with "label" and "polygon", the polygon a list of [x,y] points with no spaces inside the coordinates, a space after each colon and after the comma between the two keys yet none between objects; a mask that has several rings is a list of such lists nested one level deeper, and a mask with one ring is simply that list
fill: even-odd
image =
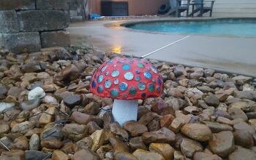
[{"label": "golden-brown rock at bottom edge, directly below a wide humped brown rock", "polygon": [[149,151],[161,154],[165,159],[173,159],[174,149],[167,143],[151,143]]}]

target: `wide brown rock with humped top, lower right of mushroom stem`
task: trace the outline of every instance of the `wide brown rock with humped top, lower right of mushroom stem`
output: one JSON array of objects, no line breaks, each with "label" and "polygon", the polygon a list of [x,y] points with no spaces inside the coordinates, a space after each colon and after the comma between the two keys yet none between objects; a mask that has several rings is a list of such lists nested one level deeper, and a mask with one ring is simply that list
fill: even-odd
[{"label": "wide brown rock with humped top, lower right of mushroom stem", "polygon": [[175,143],[176,135],[167,128],[162,128],[154,132],[145,132],[142,135],[143,143]]}]

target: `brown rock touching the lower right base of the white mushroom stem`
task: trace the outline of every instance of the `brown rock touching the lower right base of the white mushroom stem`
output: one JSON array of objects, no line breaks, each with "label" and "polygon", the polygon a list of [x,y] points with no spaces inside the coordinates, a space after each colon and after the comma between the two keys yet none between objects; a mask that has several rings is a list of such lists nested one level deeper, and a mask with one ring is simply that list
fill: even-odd
[{"label": "brown rock touching the lower right base of the white mushroom stem", "polygon": [[148,128],[140,124],[138,121],[127,121],[124,123],[124,129],[126,129],[132,137],[142,135],[144,132],[148,132]]}]

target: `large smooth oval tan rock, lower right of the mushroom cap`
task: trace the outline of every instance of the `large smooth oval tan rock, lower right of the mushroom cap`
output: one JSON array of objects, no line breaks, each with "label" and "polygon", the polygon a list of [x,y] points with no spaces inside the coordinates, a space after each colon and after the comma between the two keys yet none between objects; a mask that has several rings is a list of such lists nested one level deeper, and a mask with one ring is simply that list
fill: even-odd
[{"label": "large smooth oval tan rock, lower right of the mushroom cap", "polygon": [[211,140],[212,137],[211,129],[205,124],[185,124],[181,128],[181,132],[194,140],[202,142]]}]

